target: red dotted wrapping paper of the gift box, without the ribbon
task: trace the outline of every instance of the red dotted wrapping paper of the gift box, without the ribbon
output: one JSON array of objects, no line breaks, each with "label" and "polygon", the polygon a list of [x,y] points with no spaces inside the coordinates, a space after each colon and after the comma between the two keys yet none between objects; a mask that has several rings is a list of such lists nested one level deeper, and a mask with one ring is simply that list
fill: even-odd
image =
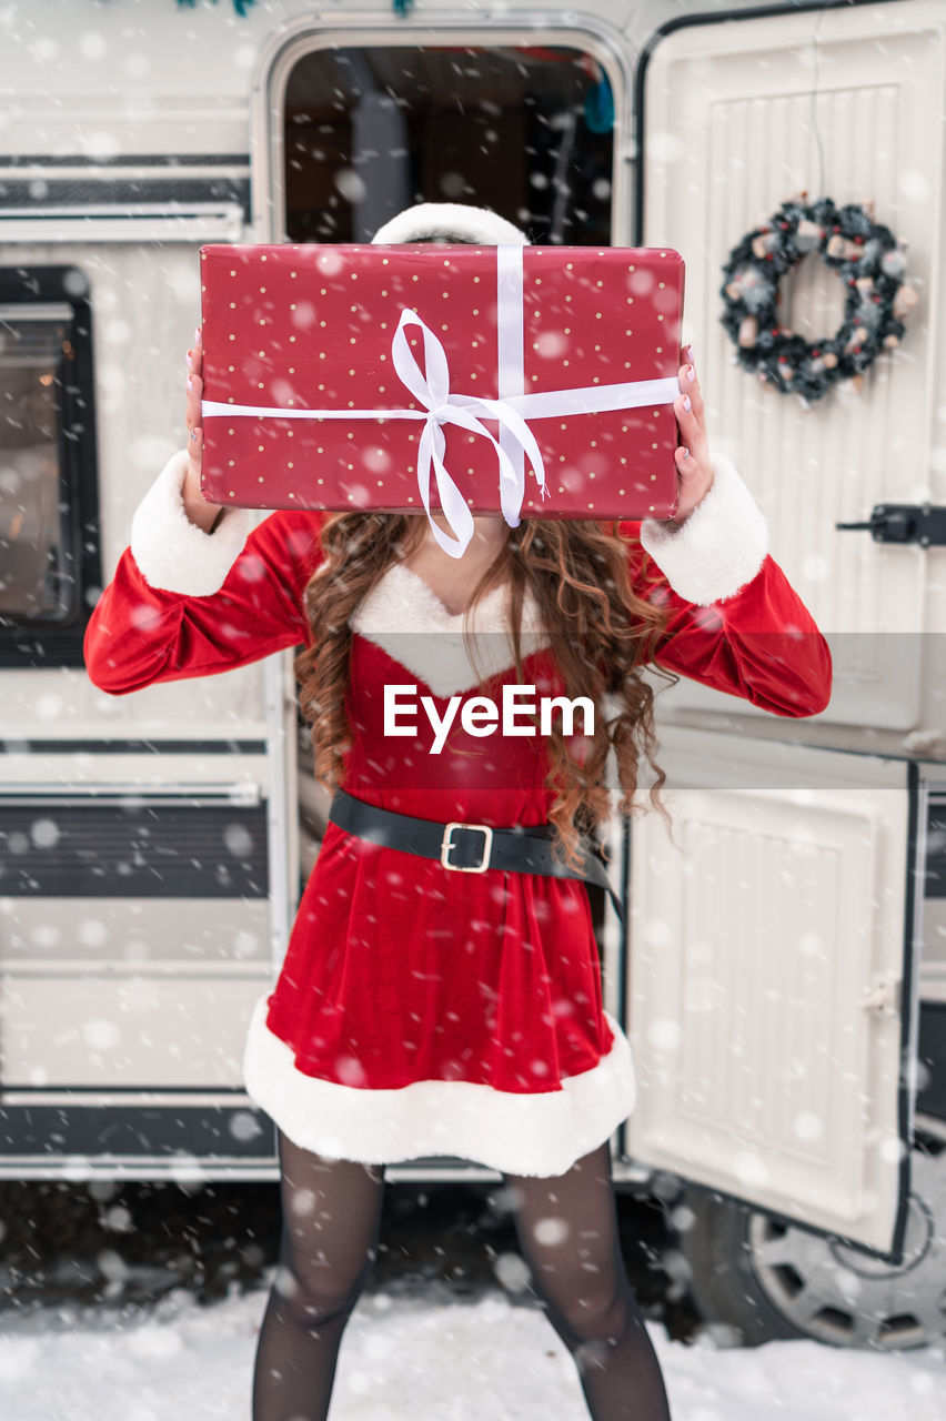
[{"label": "red dotted wrapping paper of the gift box, without the ribbon", "polygon": [[[437,333],[452,391],[499,394],[494,247],[206,246],[200,260],[207,402],[412,408],[391,362],[405,307]],[[678,252],[524,247],[523,261],[524,391],[676,377]],[[524,517],[672,514],[679,443],[672,404],[534,419],[530,428],[550,497],[537,497],[531,483]],[[203,492],[244,507],[418,512],[419,429],[384,416],[207,418]],[[469,506],[499,514],[493,446],[459,428],[443,433],[445,463]],[[430,503],[439,506],[436,479]]]}]

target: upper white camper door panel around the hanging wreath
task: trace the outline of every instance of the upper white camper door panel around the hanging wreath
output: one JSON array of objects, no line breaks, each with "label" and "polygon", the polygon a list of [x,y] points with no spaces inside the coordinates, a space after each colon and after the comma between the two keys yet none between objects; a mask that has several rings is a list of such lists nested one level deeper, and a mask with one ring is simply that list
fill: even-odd
[{"label": "upper white camper door panel around the hanging wreath", "polygon": [[[835,523],[885,502],[943,502],[943,20],[940,0],[727,14],[659,37],[642,58],[643,244],[669,243],[686,260],[685,328],[710,448],[736,462],[768,519],[776,561],[828,635],[835,689],[820,719],[878,729],[918,720],[936,553]],[[837,385],[810,409],[736,364],[719,294],[732,249],[803,189],[838,206],[872,199],[875,220],[909,242],[919,294],[901,348],[865,371],[862,392]],[[844,291],[820,256],[805,257],[781,294],[781,324],[807,340],[839,327]],[[692,682],[670,699],[766,713]]]}]

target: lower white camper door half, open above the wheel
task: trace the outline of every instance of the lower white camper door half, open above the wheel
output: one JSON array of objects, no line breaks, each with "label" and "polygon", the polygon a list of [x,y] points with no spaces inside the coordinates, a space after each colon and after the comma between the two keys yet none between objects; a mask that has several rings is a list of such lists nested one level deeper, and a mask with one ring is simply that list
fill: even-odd
[{"label": "lower white camper door half, open above the wheel", "polygon": [[[908,766],[663,728],[631,823],[634,1160],[893,1250],[915,1032]],[[737,787],[733,787],[737,786]]]}]

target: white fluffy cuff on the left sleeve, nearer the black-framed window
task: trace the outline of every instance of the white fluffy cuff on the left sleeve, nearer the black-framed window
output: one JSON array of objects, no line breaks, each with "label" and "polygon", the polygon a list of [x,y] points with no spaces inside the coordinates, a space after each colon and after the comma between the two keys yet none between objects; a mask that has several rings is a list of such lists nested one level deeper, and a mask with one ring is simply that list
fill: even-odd
[{"label": "white fluffy cuff on the left sleeve, nearer the black-framed window", "polygon": [[213,533],[205,533],[185,513],[180,490],[186,473],[187,450],[179,449],[138,504],[131,550],[151,587],[183,597],[212,597],[250,534],[250,510],[226,509]]}]

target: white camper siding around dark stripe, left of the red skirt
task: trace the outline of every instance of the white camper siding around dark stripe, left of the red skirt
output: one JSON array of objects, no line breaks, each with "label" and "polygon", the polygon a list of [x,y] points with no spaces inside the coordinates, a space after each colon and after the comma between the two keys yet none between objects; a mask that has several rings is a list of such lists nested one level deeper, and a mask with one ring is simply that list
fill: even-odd
[{"label": "white camper siding around dark stripe, left of the red skirt", "polygon": [[[276,658],[273,665],[281,686]],[[280,696],[274,716],[281,703]],[[243,1034],[286,951],[298,887],[284,739],[280,725],[266,756],[7,753],[7,796],[34,800],[38,816],[57,799],[237,807],[264,799],[270,895],[0,898],[4,1091],[47,1083],[243,1090]]]}]

